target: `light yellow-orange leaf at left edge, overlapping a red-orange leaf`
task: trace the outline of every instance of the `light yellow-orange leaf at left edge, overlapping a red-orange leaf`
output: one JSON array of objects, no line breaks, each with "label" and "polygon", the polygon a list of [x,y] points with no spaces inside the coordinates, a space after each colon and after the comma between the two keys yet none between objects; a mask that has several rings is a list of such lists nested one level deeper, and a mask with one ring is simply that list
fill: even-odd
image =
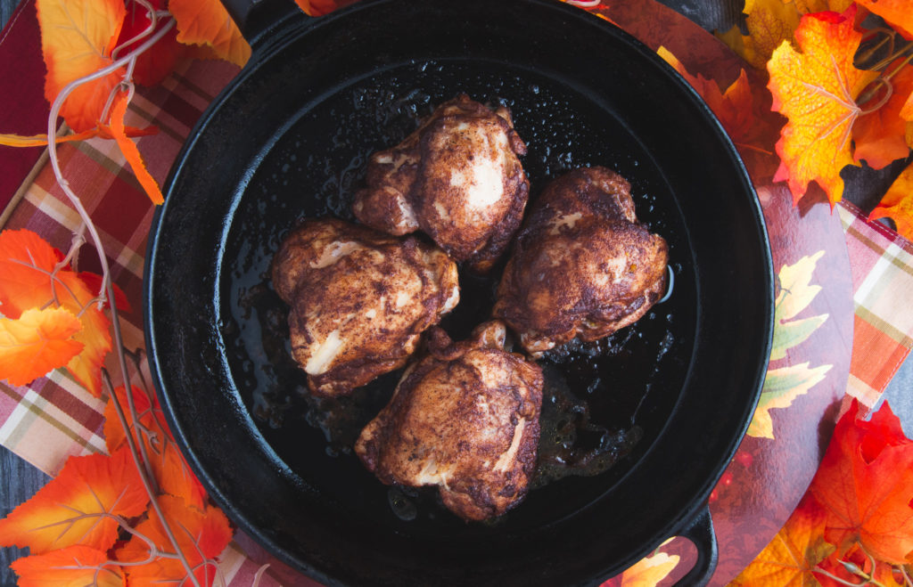
[{"label": "light yellow-orange leaf at left edge, overlapping a red-orange leaf", "polygon": [[18,318],[0,318],[0,377],[25,386],[68,364],[85,345],[73,335],[82,330],[66,308],[32,308]]}]

